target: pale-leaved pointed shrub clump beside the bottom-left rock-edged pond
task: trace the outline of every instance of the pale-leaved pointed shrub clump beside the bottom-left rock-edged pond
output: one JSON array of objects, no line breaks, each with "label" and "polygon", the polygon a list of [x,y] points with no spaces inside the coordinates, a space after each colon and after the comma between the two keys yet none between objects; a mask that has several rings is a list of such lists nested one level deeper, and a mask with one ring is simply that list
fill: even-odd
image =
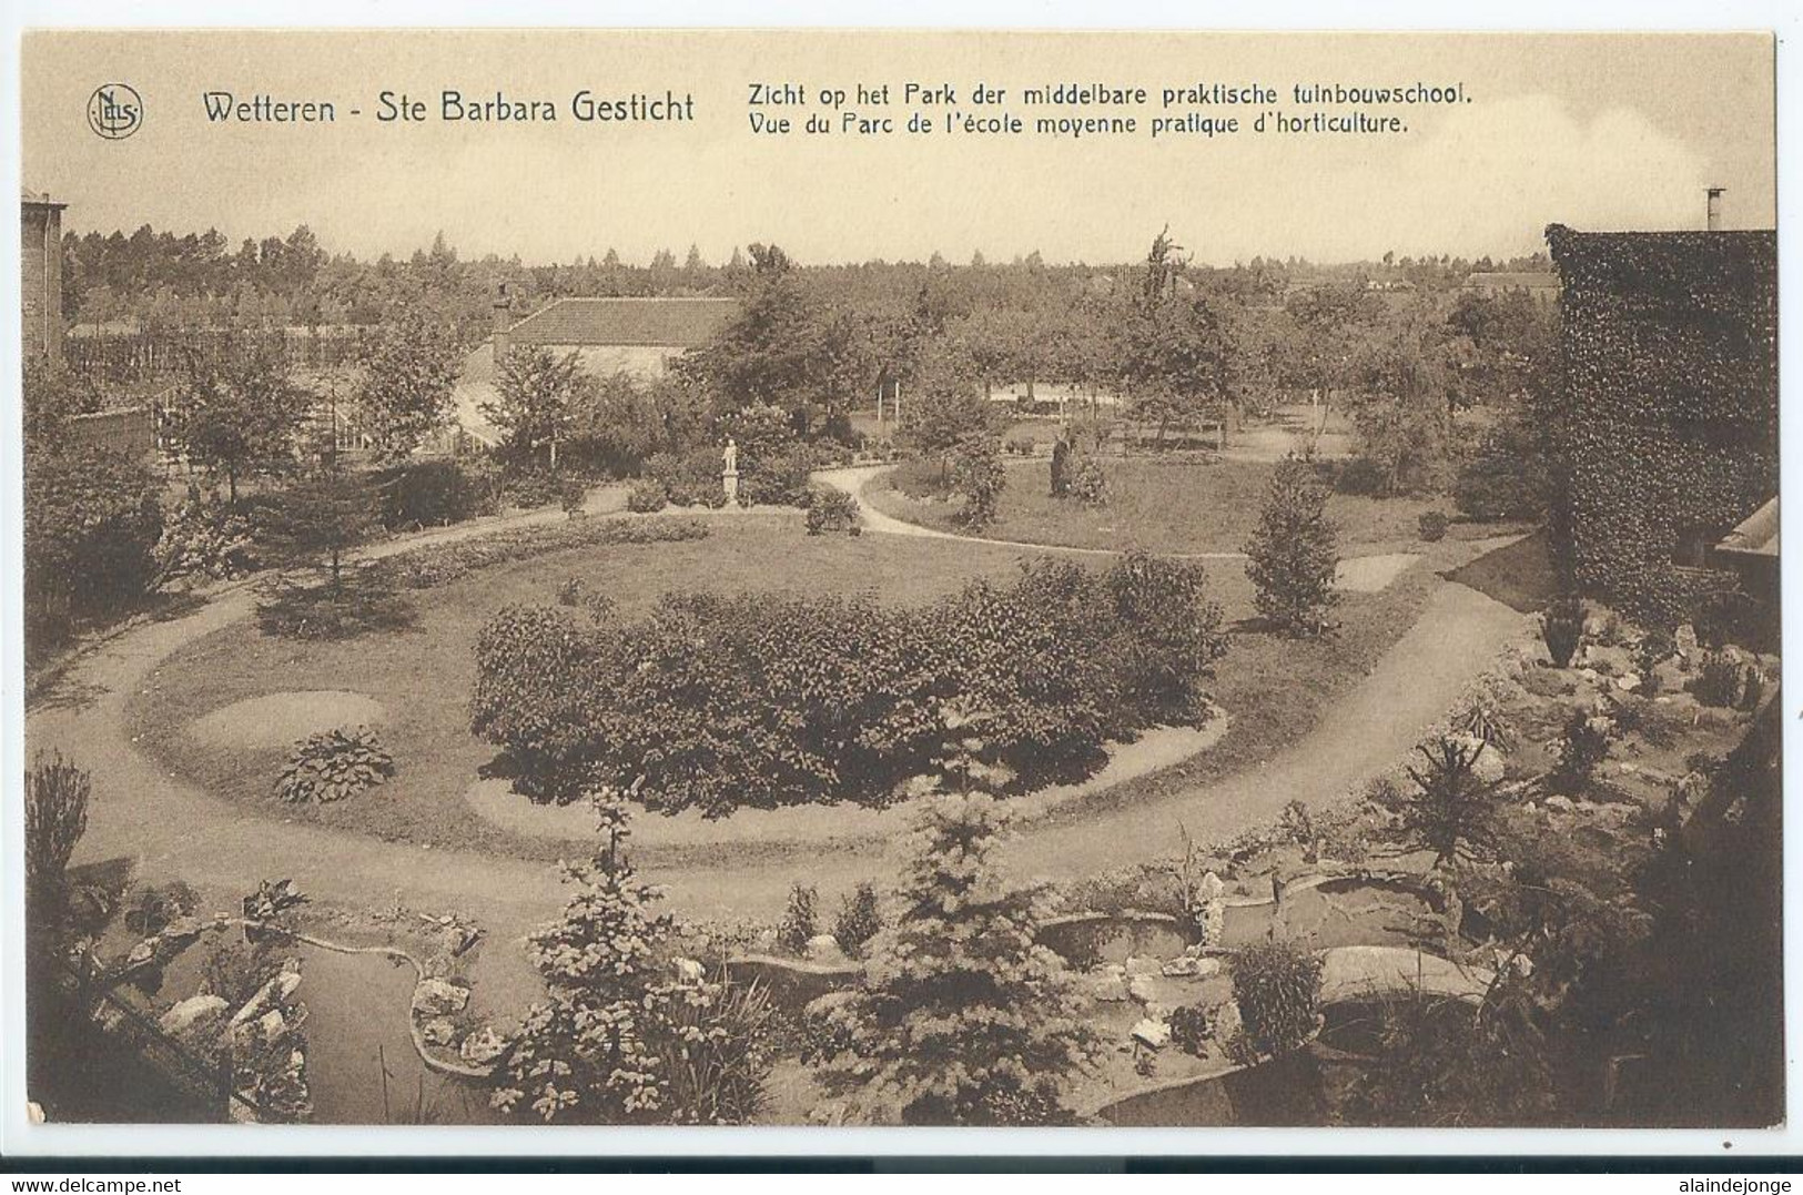
[{"label": "pale-leaved pointed shrub clump beside the bottom-left rock-edged pond", "polygon": [[673,982],[673,921],[624,853],[626,807],[597,797],[604,849],[566,863],[563,919],[532,935],[546,999],[496,1069],[494,1107],[590,1125],[736,1125],[763,1103],[766,1000]]}]

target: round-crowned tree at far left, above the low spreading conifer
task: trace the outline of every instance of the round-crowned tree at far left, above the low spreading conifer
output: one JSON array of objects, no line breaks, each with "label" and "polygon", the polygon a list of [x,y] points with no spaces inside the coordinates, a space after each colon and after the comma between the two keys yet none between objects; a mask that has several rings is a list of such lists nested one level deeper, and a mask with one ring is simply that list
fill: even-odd
[{"label": "round-crowned tree at far left, above the low spreading conifer", "polygon": [[169,434],[189,461],[225,474],[236,503],[240,478],[292,465],[308,406],[279,351],[265,342],[227,344],[216,357],[195,350],[169,411]]}]

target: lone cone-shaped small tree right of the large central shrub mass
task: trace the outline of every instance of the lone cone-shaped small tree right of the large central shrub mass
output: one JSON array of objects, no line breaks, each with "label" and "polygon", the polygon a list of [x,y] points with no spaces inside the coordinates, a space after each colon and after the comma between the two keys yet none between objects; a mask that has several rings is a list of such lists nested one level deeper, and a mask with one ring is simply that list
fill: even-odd
[{"label": "lone cone-shaped small tree right of the large central shrub mass", "polygon": [[1320,634],[1340,600],[1340,544],[1327,521],[1327,488],[1295,454],[1277,463],[1258,526],[1246,544],[1253,604],[1284,634]]}]

